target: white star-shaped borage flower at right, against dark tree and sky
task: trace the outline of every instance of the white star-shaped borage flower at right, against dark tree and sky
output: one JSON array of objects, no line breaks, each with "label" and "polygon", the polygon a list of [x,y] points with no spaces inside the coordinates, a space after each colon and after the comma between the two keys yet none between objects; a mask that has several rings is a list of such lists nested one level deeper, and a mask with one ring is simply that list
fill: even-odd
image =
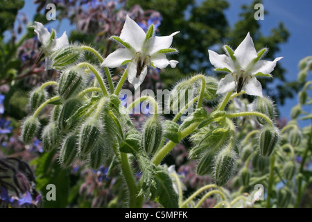
[{"label": "white star-shaped borage flower at right, against dark tree and sky", "polygon": [[220,80],[216,93],[224,94],[236,88],[238,93],[243,89],[246,94],[262,97],[261,83],[256,76],[272,77],[270,73],[277,61],[283,57],[275,58],[272,62],[260,60],[268,49],[262,49],[257,53],[249,33],[235,51],[227,45],[223,49],[227,55],[219,55],[208,50],[209,60],[216,67],[215,70],[229,72]]}]

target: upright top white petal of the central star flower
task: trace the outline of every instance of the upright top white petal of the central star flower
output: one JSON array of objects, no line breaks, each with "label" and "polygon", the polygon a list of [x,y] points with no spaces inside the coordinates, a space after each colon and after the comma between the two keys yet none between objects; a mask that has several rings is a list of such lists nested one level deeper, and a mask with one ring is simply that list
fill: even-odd
[{"label": "upright top white petal of the central star flower", "polygon": [[119,36],[123,42],[127,42],[135,51],[141,51],[146,33],[144,30],[127,15],[121,35]]}]

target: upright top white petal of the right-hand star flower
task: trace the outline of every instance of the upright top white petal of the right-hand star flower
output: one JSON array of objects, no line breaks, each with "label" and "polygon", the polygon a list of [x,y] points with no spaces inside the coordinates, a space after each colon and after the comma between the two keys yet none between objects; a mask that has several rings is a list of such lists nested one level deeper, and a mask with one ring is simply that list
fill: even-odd
[{"label": "upright top white petal of the right-hand star flower", "polygon": [[246,69],[250,62],[257,58],[257,51],[254,49],[254,42],[249,33],[234,51],[234,56],[237,62],[239,62],[241,69]]}]

